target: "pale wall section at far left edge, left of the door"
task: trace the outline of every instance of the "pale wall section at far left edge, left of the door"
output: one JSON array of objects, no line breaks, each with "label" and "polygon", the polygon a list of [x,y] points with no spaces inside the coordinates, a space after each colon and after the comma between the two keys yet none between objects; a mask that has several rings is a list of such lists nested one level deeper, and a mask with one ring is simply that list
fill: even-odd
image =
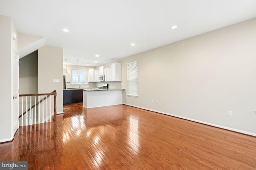
[{"label": "pale wall section at far left edge, left of the door", "polygon": [[0,88],[0,142],[6,139],[12,140],[11,136],[11,18],[0,15],[0,76],[5,83]]}]

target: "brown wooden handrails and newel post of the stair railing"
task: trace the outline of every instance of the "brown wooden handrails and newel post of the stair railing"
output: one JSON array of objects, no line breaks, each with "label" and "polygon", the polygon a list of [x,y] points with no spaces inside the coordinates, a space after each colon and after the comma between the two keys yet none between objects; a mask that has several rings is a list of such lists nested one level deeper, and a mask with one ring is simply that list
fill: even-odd
[{"label": "brown wooden handrails and newel post of the stair railing", "polygon": [[[47,96],[46,96],[46,95],[47,95]],[[51,96],[51,95],[54,96],[53,121],[56,121],[56,120],[57,120],[57,111],[56,111],[56,96],[57,96],[57,92],[56,92],[56,90],[54,90],[54,91],[51,92],[51,93],[42,93],[42,94],[20,94],[19,96],[20,96],[20,97],[25,97],[25,96],[46,96],[46,97],[44,97],[44,99],[42,99],[42,100],[40,100],[39,102],[36,103],[36,106],[37,106],[39,103],[43,102],[43,100],[46,100],[46,98],[48,98],[48,97]],[[35,105],[33,105],[33,106],[31,107],[31,109],[34,108],[34,107],[35,107]],[[22,113],[22,114],[19,116],[19,118],[22,117],[22,115],[26,114],[28,111],[30,111],[30,108],[29,108],[27,111],[25,111],[24,113]]]}]

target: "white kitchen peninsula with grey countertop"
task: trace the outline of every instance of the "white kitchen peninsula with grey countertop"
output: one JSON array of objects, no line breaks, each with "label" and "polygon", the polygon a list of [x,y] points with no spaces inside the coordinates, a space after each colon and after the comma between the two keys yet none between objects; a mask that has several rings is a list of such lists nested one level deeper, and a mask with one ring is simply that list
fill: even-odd
[{"label": "white kitchen peninsula with grey countertop", "polygon": [[123,89],[86,88],[83,90],[85,108],[123,104]]}]

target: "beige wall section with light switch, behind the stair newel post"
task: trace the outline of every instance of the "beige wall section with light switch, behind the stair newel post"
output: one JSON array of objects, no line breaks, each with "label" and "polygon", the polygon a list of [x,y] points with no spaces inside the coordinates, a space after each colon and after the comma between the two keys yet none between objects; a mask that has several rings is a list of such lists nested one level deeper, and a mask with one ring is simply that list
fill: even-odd
[{"label": "beige wall section with light switch, behind the stair newel post", "polygon": [[[63,113],[63,49],[44,46],[38,49],[38,93],[57,91],[57,113]],[[59,79],[54,83],[53,79]]]}]

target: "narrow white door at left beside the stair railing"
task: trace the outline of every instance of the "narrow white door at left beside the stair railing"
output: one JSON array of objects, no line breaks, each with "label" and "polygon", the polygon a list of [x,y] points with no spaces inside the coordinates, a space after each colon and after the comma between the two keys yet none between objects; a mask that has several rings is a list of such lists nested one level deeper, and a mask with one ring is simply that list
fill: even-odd
[{"label": "narrow white door at left beside the stair railing", "polygon": [[19,68],[18,53],[13,50],[13,135],[19,127]]}]

